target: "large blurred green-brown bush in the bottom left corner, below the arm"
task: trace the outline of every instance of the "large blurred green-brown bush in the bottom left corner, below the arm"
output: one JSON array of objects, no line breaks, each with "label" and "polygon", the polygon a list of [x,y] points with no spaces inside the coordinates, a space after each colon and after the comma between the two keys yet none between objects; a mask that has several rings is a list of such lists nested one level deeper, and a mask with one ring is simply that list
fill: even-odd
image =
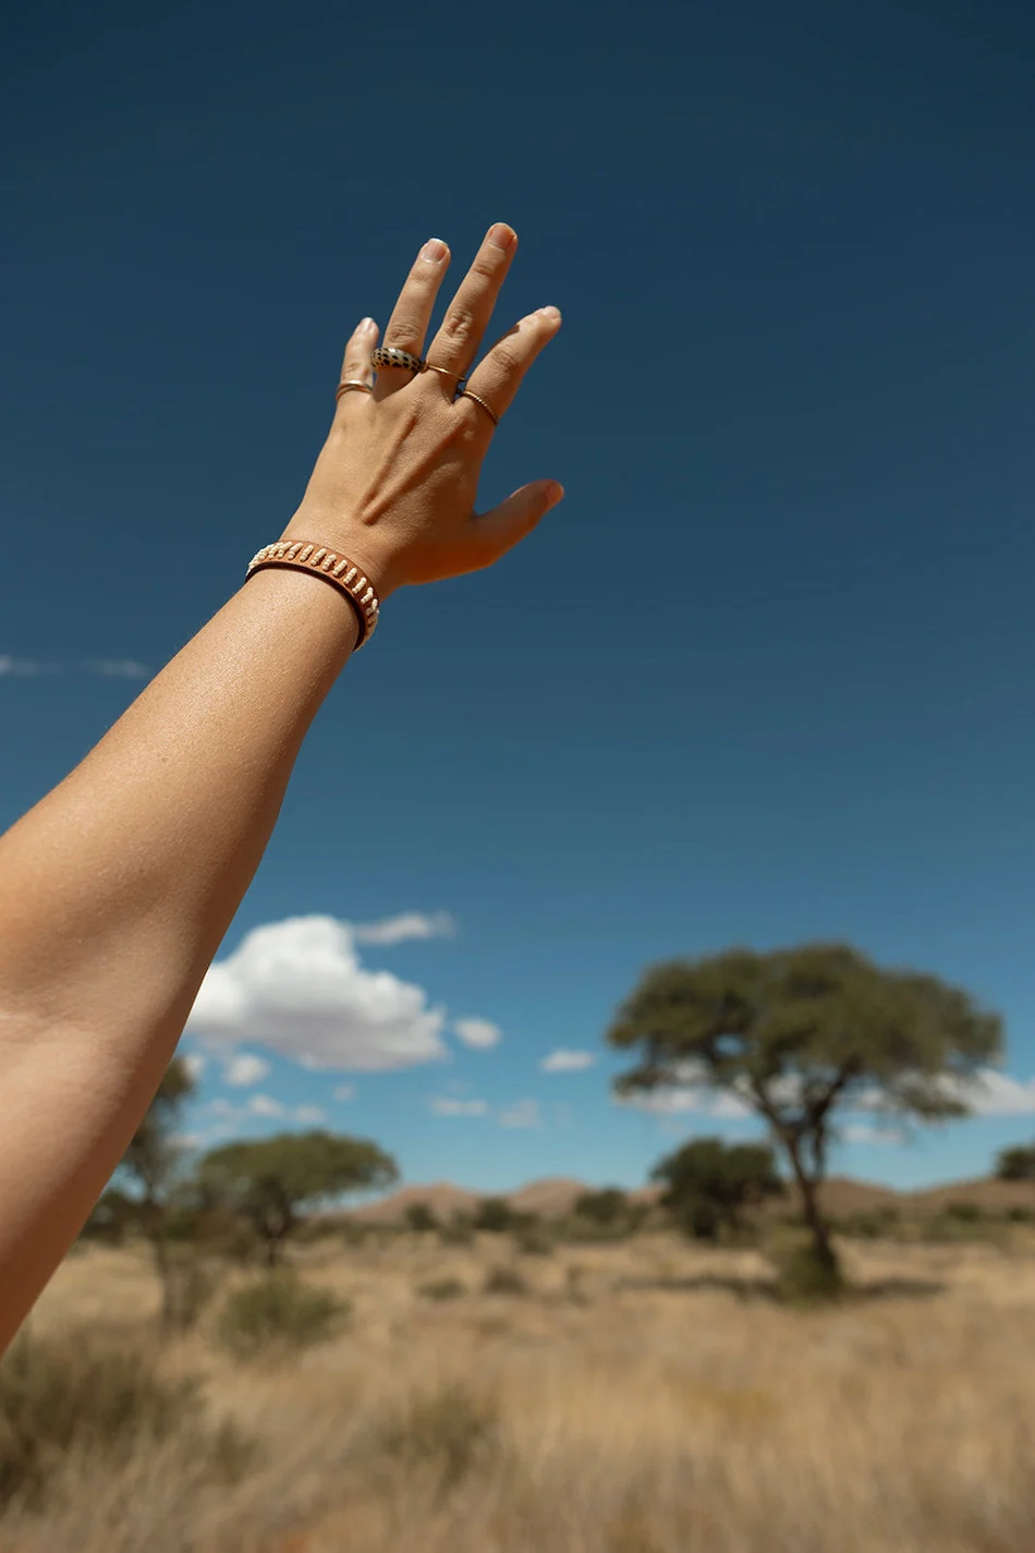
[{"label": "large blurred green-brown bush in the bottom left corner, below the arm", "polygon": [[203,1410],[197,1379],[163,1379],[147,1348],[88,1329],[23,1332],[0,1365],[0,1503],[39,1503],[73,1452],[112,1460],[172,1435],[236,1482],[256,1447],[228,1424],[206,1429]]}]

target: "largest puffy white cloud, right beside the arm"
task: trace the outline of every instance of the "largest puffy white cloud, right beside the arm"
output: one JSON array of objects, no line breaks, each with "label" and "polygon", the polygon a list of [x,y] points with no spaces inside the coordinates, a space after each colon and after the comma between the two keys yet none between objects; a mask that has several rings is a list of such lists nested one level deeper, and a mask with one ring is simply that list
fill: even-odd
[{"label": "largest puffy white cloud, right beside the arm", "polygon": [[188,1030],[256,1042],[318,1068],[397,1068],[445,1058],[445,1014],[424,988],[358,961],[349,922],[292,916],[254,927],[209,966]]}]

